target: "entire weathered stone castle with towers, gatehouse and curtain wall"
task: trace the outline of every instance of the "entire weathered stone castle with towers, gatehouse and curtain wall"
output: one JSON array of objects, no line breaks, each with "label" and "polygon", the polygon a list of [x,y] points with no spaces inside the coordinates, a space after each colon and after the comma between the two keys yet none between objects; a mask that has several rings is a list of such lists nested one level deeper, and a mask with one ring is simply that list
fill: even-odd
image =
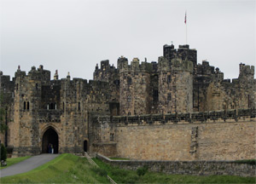
[{"label": "entire weathered stone castle with towers, gatehouse and curtain wall", "polygon": [[9,129],[2,142],[13,155],[101,152],[160,160],[255,158],[254,66],[236,79],[209,62],[197,63],[189,45],[164,45],[158,62],[117,68],[102,60],[93,80],[58,78],[44,66],[15,77],[1,72]]}]

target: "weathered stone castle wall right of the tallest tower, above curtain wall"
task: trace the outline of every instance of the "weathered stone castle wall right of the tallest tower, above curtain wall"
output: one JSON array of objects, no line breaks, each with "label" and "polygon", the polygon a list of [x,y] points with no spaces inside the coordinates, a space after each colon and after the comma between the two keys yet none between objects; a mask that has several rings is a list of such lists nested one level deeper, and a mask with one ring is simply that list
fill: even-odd
[{"label": "weathered stone castle wall right of the tallest tower, above curtain wall", "polygon": [[254,67],[240,64],[239,78],[224,80],[224,73],[209,62],[195,68],[193,107],[195,112],[255,108]]}]

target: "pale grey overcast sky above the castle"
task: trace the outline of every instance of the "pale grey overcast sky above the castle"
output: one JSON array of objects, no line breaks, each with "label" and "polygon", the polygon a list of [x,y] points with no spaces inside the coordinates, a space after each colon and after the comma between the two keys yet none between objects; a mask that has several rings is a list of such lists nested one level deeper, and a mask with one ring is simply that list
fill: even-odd
[{"label": "pale grey overcast sky above the castle", "polygon": [[1,70],[44,65],[53,78],[93,78],[96,63],[119,56],[158,60],[164,44],[188,43],[224,78],[256,66],[255,1],[1,0]]}]

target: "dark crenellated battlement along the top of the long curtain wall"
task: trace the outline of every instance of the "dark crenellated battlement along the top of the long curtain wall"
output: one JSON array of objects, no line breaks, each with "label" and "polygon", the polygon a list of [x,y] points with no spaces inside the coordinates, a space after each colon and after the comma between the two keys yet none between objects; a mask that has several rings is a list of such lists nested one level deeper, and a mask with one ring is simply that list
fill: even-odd
[{"label": "dark crenellated battlement along the top of the long curtain wall", "polygon": [[100,124],[116,126],[144,126],[159,124],[210,124],[215,122],[239,122],[256,118],[255,109],[239,109],[229,111],[146,114],[141,116],[100,116],[95,121]]}]

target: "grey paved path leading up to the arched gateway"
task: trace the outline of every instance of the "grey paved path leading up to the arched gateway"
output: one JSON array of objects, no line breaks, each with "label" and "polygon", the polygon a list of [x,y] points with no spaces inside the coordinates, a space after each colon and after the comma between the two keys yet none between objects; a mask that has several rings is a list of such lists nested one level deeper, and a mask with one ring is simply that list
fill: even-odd
[{"label": "grey paved path leading up to the arched gateway", "polygon": [[58,154],[40,154],[28,158],[18,164],[13,164],[3,170],[0,170],[0,177],[5,177],[8,175],[17,175],[20,173],[25,173],[29,170],[33,170],[38,166],[45,164],[52,160],[53,158],[59,156]]}]

